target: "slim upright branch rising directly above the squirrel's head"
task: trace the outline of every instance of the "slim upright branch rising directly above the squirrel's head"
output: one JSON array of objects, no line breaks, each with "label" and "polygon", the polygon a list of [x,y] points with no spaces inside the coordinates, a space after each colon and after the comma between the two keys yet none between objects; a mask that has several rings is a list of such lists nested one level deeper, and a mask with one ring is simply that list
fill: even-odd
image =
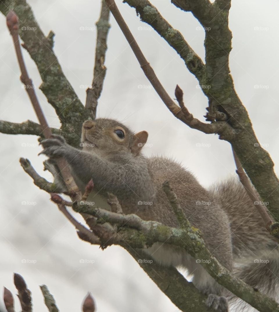
[{"label": "slim upright branch rising directly above the squirrel's head", "polygon": [[109,9],[106,5],[105,0],[102,0],[101,12],[97,26],[97,41],[95,51],[95,65],[94,65],[94,76],[92,81],[92,87],[86,90],[86,102],[85,109],[89,111],[89,115],[92,119],[96,118],[96,110],[98,105],[98,99],[103,90],[103,82],[106,76],[107,68],[104,66],[105,55],[107,51],[107,37],[110,25],[109,20]]}]

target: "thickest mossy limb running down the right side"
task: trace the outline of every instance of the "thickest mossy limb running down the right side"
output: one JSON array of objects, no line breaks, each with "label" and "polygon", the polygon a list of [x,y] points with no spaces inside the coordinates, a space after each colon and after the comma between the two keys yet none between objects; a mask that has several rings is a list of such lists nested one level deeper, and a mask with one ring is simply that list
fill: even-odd
[{"label": "thickest mossy limb running down the right side", "polygon": [[[201,3],[200,1],[202,0],[199,0],[199,3]],[[153,9],[153,7],[150,6],[150,3],[147,3],[147,0],[126,0],[125,2],[136,7],[137,12],[139,13],[145,8],[144,12],[150,13],[150,17],[152,17],[151,12],[155,13],[155,18],[157,16],[156,8]],[[180,7],[186,2],[191,3],[191,5],[194,3],[194,1],[190,0],[185,0],[183,2],[182,0],[176,0],[176,3],[180,3]],[[205,2],[207,1],[204,1],[204,3]],[[221,10],[218,8],[219,5],[221,6],[225,3],[227,4],[225,9]],[[207,6],[208,4],[206,4],[205,8],[200,7],[200,10],[206,10]],[[220,139],[227,140],[232,144],[240,162],[243,164],[245,172],[254,187],[257,189],[262,200],[269,202],[268,210],[272,213],[275,221],[278,222],[279,181],[274,173],[274,163],[267,151],[265,151],[261,147],[261,144],[259,144],[248,116],[248,112],[238,98],[234,89],[233,79],[229,74],[228,56],[231,51],[232,38],[232,34],[228,29],[230,1],[215,1],[214,7],[219,10],[220,14],[212,19],[209,23],[210,29],[205,32],[206,37],[204,45],[206,50],[206,71],[204,75],[196,75],[196,77],[198,78],[200,85],[208,86],[208,88],[202,88],[202,91],[209,99],[209,113],[207,114],[207,117],[210,118],[213,125],[215,124],[215,129],[214,131],[211,131],[209,128],[206,128],[206,130],[209,129],[209,131],[205,131],[203,129],[203,124],[200,124],[200,121],[193,119],[194,121],[192,123],[187,123],[182,120],[182,118],[180,119],[180,116],[178,118],[185,122],[185,124],[188,124],[191,128],[198,129],[204,133],[221,132]],[[203,12],[200,14],[203,14]],[[141,15],[141,18],[144,22],[147,22],[143,15]],[[156,27],[156,25],[153,26],[151,22],[150,25],[154,28]],[[130,41],[128,40],[128,42]],[[188,69],[191,71],[189,67]],[[175,108],[171,111],[175,114]],[[222,114],[223,117],[226,116],[223,124],[217,119],[220,114]],[[216,129],[215,120],[220,123],[221,127],[217,124]],[[255,170],[255,168],[257,170]]]}]

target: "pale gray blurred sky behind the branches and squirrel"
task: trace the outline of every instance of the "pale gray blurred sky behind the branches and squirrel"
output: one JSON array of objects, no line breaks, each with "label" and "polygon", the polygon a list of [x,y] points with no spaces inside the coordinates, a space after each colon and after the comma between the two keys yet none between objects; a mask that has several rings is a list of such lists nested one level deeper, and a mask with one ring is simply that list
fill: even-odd
[{"label": "pale gray blurred sky behind the branches and squirrel", "polygon": [[[175,86],[179,84],[185,105],[203,120],[207,99],[184,62],[149,25],[140,22],[134,9],[120,0],[116,2],[166,90],[174,97]],[[99,1],[32,0],[29,3],[43,32],[46,35],[50,30],[55,32],[54,51],[66,77],[85,102],[85,89],[81,86],[92,81],[96,30],[80,30],[80,27],[95,27]],[[169,0],[152,0],[152,3],[204,59],[204,31],[192,14],[180,11]],[[265,144],[274,162],[279,153],[278,12],[278,1],[233,0],[229,18],[233,32],[230,68],[235,88],[250,114],[259,141]],[[108,71],[98,116],[116,118],[135,131],[147,130],[148,142],[153,146],[144,149],[146,155],[175,158],[206,187],[234,174],[229,144],[217,136],[189,129],[171,115],[150,87],[113,17],[110,21]],[[0,23],[0,118],[13,122],[36,121],[19,80],[12,39],[3,16]],[[26,51],[24,57],[48,122],[52,127],[59,127],[55,111],[38,89],[41,79],[36,66]],[[140,85],[144,87],[140,89]],[[29,158],[39,173],[51,179],[49,173],[42,171],[45,158],[37,156],[41,149],[35,136],[0,135],[1,286],[14,291],[12,272],[22,274],[33,293],[37,311],[46,310],[38,286],[41,284],[46,284],[55,295],[61,311],[79,311],[87,291],[97,301],[98,311],[178,311],[126,251],[115,246],[101,251],[80,241],[74,227],[49,201],[49,195],[33,185],[18,162],[20,157]],[[210,146],[198,147],[198,143]],[[23,201],[36,204],[22,205]],[[36,263],[22,263],[24,259]],[[94,263],[82,264],[80,259]]]}]

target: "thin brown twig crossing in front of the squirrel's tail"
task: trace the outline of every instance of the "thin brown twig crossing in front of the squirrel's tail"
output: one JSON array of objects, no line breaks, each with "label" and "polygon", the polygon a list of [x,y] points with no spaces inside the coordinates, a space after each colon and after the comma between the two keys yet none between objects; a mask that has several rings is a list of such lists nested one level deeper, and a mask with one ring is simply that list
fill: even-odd
[{"label": "thin brown twig crossing in front of the squirrel's tail", "polygon": [[271,217],[269,216],[269,214],[267,213],[267,207],[262,203],[261,199],[257,195],[245,171],[243,170],[242,164],[240,163],[240,160],[238,159],[237,154],[235,153],[233,148],[232,150],[233,150],[234,162],[237,168],[236,173],[238,174],[239,180],[242,183],[243,187],[245,188],[247,195],[251,198],[255,208],[261,215],[265,227],[268,230],[270,230],[270,226],[273,223],[273,221]]}]

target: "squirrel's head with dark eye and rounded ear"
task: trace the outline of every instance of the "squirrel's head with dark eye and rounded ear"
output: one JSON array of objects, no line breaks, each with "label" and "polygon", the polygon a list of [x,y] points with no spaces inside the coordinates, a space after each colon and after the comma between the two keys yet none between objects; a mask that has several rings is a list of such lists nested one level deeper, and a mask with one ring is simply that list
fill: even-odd
[{"label": "squirrel's head with dark eye and rounded ear", "polygon": [[131,153],[137,155],[147,141],[148,133],[136,134],[113,119],[86,120],[82,125],[83,149],[96,154]]}]

